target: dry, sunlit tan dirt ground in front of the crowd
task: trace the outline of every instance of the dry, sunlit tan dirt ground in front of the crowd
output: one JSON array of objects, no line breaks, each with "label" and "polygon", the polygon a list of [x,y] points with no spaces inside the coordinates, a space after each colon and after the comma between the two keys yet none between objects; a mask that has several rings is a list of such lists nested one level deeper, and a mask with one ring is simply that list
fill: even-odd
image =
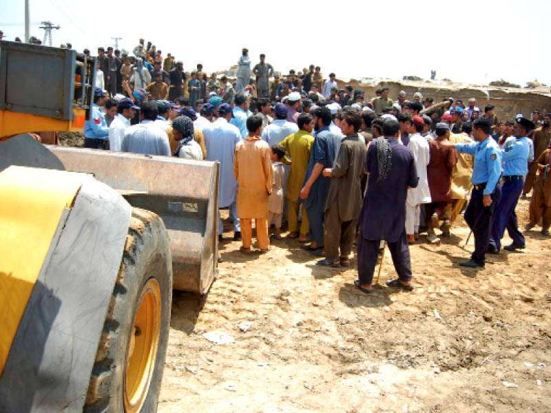
[{"label": "dry, sunlit tan dirt ground in front of the crowd", "polygon": [[[517,213],[524,226],[528,201]],[[158,411],[551,412],[551,238],[530,231],[523,253],[475,271],[458,265],[473,240],[457,224],[441,246],[411,247],[412,293],[384,286],[388,251],[365,295],[355,256],[340,271],[294,240],[250,256],[222,242],[209,294],[174,292]]]}]

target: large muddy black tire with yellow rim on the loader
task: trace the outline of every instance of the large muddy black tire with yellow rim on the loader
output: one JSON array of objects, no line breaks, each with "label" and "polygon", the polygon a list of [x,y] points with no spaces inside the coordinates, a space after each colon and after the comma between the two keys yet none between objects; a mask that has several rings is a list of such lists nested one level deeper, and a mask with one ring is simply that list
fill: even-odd
[{"label": "large muddy black tire with yellow rim on the loader", "polygon": [[134,208],[83,412],[156,412],[171,301],[165,225]]}]

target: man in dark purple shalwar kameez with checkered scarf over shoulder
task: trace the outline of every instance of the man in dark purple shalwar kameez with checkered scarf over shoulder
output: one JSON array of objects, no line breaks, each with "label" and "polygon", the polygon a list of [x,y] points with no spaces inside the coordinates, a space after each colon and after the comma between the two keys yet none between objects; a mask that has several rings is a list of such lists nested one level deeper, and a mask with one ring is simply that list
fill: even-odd
[{"label": "man in dark purple shalwar kameez with checkered scarf over shoulder", "polygon": [[369,172],[369,183],[358,218],[361,227],[357,242],[359,279],[354,282],[364,293],[371,293],[381,240],[388,243],[399,277],[386,284],[413,290],[406,237],[406,198],[408,188],[417,187],[419,178],[413,152],[397,141],[399,129],[396,118],[385,116],[384,136],[371,142],[366,155],[365,169]]}]

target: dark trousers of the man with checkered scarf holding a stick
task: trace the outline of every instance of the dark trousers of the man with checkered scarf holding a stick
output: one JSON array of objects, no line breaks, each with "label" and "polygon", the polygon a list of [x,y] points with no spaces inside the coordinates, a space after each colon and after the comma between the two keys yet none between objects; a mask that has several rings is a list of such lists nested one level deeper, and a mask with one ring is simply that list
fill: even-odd
[{"label": "dark trousers of the man with checkered scarf holding a stick", "polygon": [[[377,264],[379,246],[381,240],[366,240],[362,234],[357,241],[357,273],[360,284],[371,284],[373,282],[373,271]],[[399,279],[404,282],[411,280],[411,260],[409,255],[408,238],[406,227],[396,242],[387,242],[388,251],[391,251],[394,268]]]}]

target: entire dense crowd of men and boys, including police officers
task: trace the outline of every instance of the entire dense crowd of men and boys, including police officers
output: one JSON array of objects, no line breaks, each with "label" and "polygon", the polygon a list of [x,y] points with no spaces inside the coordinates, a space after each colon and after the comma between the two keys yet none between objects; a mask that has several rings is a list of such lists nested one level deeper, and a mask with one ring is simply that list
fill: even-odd
[{"label": "entire dense crowd of men and boys, including police officers", "polygon": [[[525,248],[514,209],[530,191],[524,230],[542,220],[549,235],[545,111],[502,123],[475,98],[435,103],[401,91],[393,101],[385,87],[368,99],[339,89],[333,73],[324,80],[315,65],[280,78],[261,54],[251,68],[247,49],[235,84],[201,65],[188,76],[142,39],[133,52],[98,49],[85,147],[220,162],[219,207],[229,209],[242,253],[253,248],[252,220],[260,252],[285,225],[319,266],[350,266],[356,245],[355,284],[370,293],[384,243],[398,275],[388,284],[411,290],[409,245],[423,231],[439,244],[461,213],[475,237],[464,266],[484,267],[486,253],[500,253],[506,229],[513,242],[503,248]],[[218,234],[223,241],[220,214]]]}]

